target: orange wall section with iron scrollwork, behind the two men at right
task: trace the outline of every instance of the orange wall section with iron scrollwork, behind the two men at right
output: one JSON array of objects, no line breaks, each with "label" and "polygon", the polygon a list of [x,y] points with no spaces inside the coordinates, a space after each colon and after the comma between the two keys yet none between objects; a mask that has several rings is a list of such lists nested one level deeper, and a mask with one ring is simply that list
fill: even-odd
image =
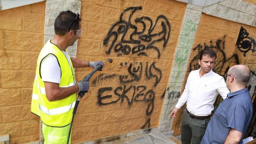
[{"label": "orange wall section with iron scrollwork, behind the two men at right", "polygon": [[[246,56],[243,56],[243,53],[240,52],[237,49],[237,45],[235,45],[241,26],[247,30],[250,37],[254,39],[256,38],[256,27],[254,26],[248,26],[245,24],[240,24],[218,17],[202,14],[191,50],[183,89],[186,85],[186,79],[189,75],[189,72],[191,70],[199,69],[199,53],[205,48],[213,49],[217,53],[215,67],[213,69],[217,74],[224,76],[229,67],[237,64],[243,64],[248,66],[252,71],[251,77],[256,76],[256,53],[249,51],[246,53]],[[255,97],[256,83],[249,83],[249,85],[251,85],[250,92],[253,93],[252,96]],[[183,106],[183,109],[185,107],[186,106]],[[180,134],[183,109],[179,112],[179,115],[173,122],[172,129],[175,131],[175,135]]]}]

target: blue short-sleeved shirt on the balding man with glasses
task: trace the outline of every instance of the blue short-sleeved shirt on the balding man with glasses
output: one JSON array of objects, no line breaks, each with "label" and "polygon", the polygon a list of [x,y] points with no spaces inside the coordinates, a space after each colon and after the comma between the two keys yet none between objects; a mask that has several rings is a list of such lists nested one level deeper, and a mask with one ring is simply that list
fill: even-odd
[{"label": "blue short-sleeved shirt on the balding man with glasses", "polygon": [[248,88],[227,95],[210,120],[201,144],[224,143],[230,128],[241,131],[243,136],[253,117],[253,103]]}]

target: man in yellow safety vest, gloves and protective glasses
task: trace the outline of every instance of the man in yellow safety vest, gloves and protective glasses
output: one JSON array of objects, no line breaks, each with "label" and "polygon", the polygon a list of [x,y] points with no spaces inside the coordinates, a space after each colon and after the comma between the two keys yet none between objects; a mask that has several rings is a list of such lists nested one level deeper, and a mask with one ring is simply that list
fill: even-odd
[{"label": "man in yellow safety vest, gloves and protective glasses", "polygon": [[67,142],[76,93],[89,89],[88,81],[75,82],[73,67],[104,66],[102,61],[72,58],[66,51],[82,34],[78,13],[70,10],[60,12],[55,19],[54,30],[54,37],[38,56],[31,100],[31,112],[42,121],[45,144]]}]

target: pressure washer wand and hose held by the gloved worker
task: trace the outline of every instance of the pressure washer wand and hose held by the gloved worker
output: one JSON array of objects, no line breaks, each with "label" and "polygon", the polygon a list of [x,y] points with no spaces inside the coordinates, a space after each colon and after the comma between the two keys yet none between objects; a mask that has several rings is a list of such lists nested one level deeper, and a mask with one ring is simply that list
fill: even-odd
[{"label": "pressure washer wand and hose held by the gloved worker", "polygon": [[[105,62],[109,62],[109,63],[112,63],[113,62],[113,60],[111,59],[111,58],[107,58],[105,61],[103,61],[103,63],[105,63]],[[92,71],[92,72],[90,72],[90,74],[87,74],[84,78],[83,78],[83,81],[90,81],[90,79],[92,78],[92,76],[93,76],[93,74],[95,73],[95,72],[97,72],[99,69],[101,69],[102,67],[101,67],[101,65],[97,65],[95,68],[94,68],[94,70]],[[75,116],[75,114],[76,114],[76,112],[77,112],[77,107],[78,107],[78,104],[79,104],[79,102],[80,102],[80,98],[82,98],[84,95],[85,95],[85,93],[87,93],[88,91],[80,91],[79,93],[78,93],[78,99],[77,99],[77,101],[76,101],[76,104],[75,104],[75,106],[74,106],[74,110],[73,110],[73,115],[72,115],[72,120],[71,120],[71,123],[70,123],[70,129],[69,129],[69,133],[68,133],[68,137],[67,137],[67,144],[68,144],[68,142],[69,142],[69,138],[70,138],[70,133],[71,133],[71,129],[72,129],[72,124],[73,124],[73,120],[74,120],[74,116]]]}]

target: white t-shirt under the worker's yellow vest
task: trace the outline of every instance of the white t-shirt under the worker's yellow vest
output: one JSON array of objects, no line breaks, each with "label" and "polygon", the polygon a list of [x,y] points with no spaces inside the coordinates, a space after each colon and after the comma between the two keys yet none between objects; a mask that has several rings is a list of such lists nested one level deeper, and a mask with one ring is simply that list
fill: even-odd
[{"label": "white t-shirt under the worker's yellow vest", "polygon": [[[71,68],[71,63],[70,63],[67,52],[66,51],[62,51],[62,52],[65,54]],[[42,81],[61,83],[61,68],[58,64],[57,58],[54,55],[49,54],[42,61],[41,76],[42,76]]]}]

